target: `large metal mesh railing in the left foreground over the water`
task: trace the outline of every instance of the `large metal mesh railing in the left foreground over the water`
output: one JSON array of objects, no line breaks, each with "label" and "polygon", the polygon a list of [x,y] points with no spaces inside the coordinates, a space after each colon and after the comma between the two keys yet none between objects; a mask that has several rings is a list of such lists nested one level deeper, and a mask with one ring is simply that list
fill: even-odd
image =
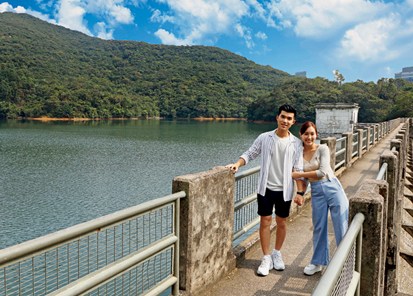
[{"label": "large metal mesh railing in the left foreground over the water", "polygon": [[[0,295],[178,294],[184,191],[0,250]],[[4,293],[4,294],[3,294]]]}]

